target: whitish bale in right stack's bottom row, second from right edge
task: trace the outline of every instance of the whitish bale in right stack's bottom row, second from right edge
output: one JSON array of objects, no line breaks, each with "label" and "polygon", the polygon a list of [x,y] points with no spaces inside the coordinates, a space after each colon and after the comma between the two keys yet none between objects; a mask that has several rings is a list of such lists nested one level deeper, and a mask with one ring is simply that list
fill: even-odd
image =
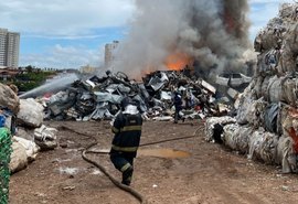
[{"label": "whitish bale in right stack's bottom row, second from right edge", "polygon": [[277,144],[277,135],[266,132],[263,128],[259,128],[249,137],[249,152],[247,158],[251,160],[260,160],[267,164],[274,164],[276,161]]}]

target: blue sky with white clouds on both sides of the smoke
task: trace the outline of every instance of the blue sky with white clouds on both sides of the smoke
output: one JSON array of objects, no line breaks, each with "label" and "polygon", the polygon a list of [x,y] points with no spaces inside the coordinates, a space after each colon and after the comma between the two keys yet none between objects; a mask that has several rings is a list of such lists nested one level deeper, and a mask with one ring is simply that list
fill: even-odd
[{"label": "blue sky with white clouds on both sides of the smoke", "polygon": [[[124,40],[134,18],[135,0],[0,1],[0,28],[21,33],[20,66],[78,68],[99,66],[104,45]],[[253,42],[279,4],[294,0],[248,0]]]}]

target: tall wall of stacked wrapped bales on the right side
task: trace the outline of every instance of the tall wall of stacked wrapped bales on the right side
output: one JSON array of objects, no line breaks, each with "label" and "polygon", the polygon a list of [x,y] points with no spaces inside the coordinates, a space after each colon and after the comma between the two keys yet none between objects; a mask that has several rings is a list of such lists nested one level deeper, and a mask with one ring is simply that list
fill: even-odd
[{"label": "tall wall of stacked wrapped bales on the right side", "polygon": [[210,118],[206,140],[298,172],[298,3],[285,3],[255,40],[256,74],[235,118]]}]

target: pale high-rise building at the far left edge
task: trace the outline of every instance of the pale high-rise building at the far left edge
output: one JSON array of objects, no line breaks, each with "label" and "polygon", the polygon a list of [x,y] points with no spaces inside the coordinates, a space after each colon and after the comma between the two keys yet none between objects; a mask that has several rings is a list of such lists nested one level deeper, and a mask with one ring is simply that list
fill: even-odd
[{"label": "pale high-rise building at the far left edge", "polygon": [[0,29],[0,66],[19,66],[20,33]]}]

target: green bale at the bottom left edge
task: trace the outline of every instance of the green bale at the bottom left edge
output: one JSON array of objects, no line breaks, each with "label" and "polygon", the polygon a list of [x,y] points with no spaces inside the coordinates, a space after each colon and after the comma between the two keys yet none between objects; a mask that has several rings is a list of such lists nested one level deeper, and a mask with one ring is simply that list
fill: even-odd
[{"label": "green bale at the bottom left edge", "polygon": [[11,137],[7,128],[0,128],[0,203],[9,200],[9,163],[11,155]]}]

